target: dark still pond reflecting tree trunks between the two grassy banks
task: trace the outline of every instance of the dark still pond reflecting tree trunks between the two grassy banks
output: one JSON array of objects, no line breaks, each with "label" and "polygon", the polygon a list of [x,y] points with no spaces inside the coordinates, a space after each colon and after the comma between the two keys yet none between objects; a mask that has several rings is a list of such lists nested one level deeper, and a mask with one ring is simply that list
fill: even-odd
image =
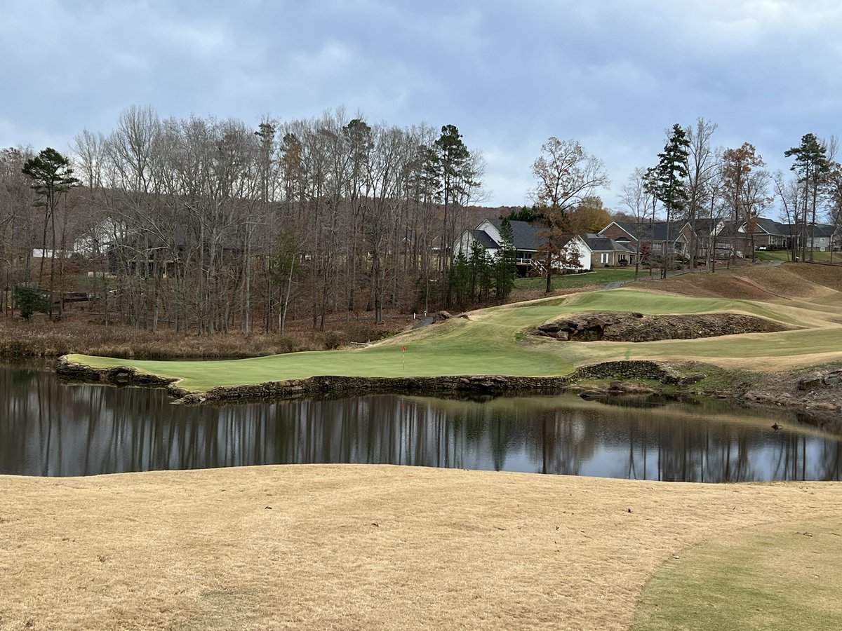
[{"label": "dark still pond reflecting tree trunks between the two grassy banks", "polygon": [[369,395],[180,406],[165,390],[61,384],[50,366],[0,364],[2,474],[377,463],[698,482],[842,479],[839,437],[795,415],[717,400]]}]

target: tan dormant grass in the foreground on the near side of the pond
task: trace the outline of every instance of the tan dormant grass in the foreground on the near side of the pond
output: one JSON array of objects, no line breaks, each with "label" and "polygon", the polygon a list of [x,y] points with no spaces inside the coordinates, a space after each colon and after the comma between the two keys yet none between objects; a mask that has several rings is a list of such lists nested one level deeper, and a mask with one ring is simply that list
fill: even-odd
[{"label": "tan dormant grass in the foreground on the near side of the pond", "polygon": [[842,514],[839,483],[391,466],[0,476],[0,490],[3,629],[627,628],[690,546]]}]

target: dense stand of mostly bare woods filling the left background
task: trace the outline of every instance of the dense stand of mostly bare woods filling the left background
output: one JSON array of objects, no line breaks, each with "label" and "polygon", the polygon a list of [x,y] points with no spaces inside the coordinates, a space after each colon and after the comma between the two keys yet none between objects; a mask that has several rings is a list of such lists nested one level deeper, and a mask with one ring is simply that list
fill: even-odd
[{"label": "dense stand of mostly bare woods filling the left background", "polygon": [[131,108],[72,150],[72,164],[3,151],[0,278],[53,294],[81,240],[106,321],[152,330],[284,331],[290,316],[323,329],[332,314],[450,304],[450,244],[482,194],[482,156],[456,126],[342,109],[253,130]]}]

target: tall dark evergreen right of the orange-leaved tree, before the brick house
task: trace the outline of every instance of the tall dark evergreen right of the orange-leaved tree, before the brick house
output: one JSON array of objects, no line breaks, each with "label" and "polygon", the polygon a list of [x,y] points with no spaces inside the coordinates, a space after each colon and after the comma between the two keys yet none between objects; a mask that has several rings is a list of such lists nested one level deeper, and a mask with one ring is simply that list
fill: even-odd
[{"label": "tall dark evergreen right of the orange-leaved tree, before the brick house", "polygon": [[670,219],[682,212],[687,203],[687,156],[690,155],[690,141],[687,133],[678,123],[673,125],[667,144],[658,153],[658,164],[651,170],[649,191],[663,204],[667,211],[667,238],[663,252],[664,264],[661,268],[661,278],[667,277],[667,270],[671,267],[673,252],[671,235],[669,234]]}]

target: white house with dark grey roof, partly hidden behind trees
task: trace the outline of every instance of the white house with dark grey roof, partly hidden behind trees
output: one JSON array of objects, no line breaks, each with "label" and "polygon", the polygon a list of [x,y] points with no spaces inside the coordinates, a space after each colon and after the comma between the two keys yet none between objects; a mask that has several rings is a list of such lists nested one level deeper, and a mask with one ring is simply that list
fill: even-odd
[{"label": "white house with dark grey roof, partly hidden behind trees", "polygon": [[[503,220],[486,219],[482,220],[473,230],[462,232],[454,246],[454,252],[461,252],[466,257],[470,256],[474,243],[479,244],[492,257],[497,256],[503,243],[503,236],[500,234]],[[512,227],[514,240],[514,264],[520,276],[527,276],[535,268],[543,268],[539,253],[541,243],[545,241],[541,231],[545,228],[541,225],[532,225],[526,221],[509,221]],[[577,268],[567,267],[567,271],[582,271],[591,269],[591,250],[588,244],[578,236],[573,236],[564,249],[570,249],[578,254],[579,265]]]}]

